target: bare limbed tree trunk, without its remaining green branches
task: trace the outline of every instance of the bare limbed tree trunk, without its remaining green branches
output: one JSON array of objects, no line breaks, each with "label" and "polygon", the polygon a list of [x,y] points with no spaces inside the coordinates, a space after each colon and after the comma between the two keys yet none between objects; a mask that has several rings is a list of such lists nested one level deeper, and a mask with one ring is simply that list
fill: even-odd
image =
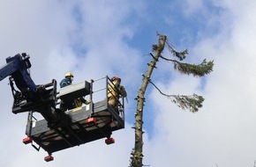
[{"label": "bare limbed tree trunk, without its remaining green branches", "polygon": [[131,157],[131,166],[132,167],[142,167],[142,148],[143,148],[143,106],[145,102],[145,92],[147,90],[147,84],[150,81],[150,77],[152,75],[153,69],[155,67],[156,62],[158,62],[158,59],[162,53],[162,50],[165,46],[166,42],[166,36],[165,35],[159,35],[158,45],[153,46],[153,49],[155,51],[155,55],[152,59],[152,61],[148,64],[147,74],[143,78],[143,82],[141,84],[141,87],[139,88],[139,94],[137,96],[137,112],[135,114],[135,146],[134,150],[132,151],[132,157]]}]

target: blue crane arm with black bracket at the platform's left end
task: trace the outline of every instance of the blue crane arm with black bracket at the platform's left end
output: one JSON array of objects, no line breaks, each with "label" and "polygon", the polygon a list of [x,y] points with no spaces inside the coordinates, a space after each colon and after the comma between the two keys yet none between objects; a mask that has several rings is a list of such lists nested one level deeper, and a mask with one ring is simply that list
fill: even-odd
[{"label": "blue crane arm with black bracket at the platform's left end", "polygon": [[0,81],[10,76],[14,98],[12,113],[34,111],[41,113],[49,121],[55,120],[52,110],[56,107],[56,81],[53,79],[49,84],[35,85],[29,73],[29,58],[26,53],[16,54],[6,58],[6,64],[0,68]]}]

